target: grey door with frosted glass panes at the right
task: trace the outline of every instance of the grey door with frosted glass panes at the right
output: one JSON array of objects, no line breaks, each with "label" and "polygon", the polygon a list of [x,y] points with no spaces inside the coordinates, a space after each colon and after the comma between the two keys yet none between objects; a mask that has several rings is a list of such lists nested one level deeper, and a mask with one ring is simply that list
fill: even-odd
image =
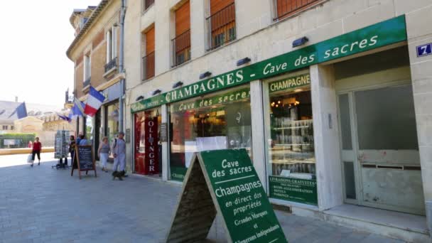
[{"label": "grey door with frosted glass panes at the right", "polygon": [[345,202],[424,215],[412,86],[340,93]]}]

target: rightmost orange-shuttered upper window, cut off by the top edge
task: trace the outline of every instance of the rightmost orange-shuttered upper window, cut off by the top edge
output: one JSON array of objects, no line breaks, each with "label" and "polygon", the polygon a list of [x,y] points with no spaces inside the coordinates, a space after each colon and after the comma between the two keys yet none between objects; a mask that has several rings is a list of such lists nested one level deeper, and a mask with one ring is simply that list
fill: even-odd
[{"label": "rightmost orange-shuttered upper window, cut off by the top edge", "polygon": [[274,0],[275,1],[275,10],[276,10],[276,18],[275,21],[281,20],[282,18],[286,18],[291,16],[294,13],[298,13],[307,9],[310,6],[317,4],[323,0]]}]

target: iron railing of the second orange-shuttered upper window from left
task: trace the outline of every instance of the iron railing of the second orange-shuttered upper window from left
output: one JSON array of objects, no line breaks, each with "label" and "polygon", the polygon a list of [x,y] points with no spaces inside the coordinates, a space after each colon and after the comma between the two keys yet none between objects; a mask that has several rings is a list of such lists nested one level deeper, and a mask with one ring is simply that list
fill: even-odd
[{"label": "iron railing of the second orange-shuttered upper window from left", "polygon": [[173,67],[190,60],[190,29],[171,40],[173,43]]}]

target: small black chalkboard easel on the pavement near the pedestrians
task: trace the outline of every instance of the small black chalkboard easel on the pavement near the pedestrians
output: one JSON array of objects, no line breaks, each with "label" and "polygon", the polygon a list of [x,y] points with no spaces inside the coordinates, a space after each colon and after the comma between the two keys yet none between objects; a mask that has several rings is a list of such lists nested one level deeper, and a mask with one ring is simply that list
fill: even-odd
[{"label": "small black chalkboard easel on the pavement near the pedestrians", "polygon": [[73,175],[73,171],[75,169],[78,170],[78,174],[80,175],[81,179],[81,171],[85,171],[86,174],[88,171],[95,171],[95,177],[96,175],[96,166],[95,166],[95,159],[93,156],[93,146],[91,145],[85,145],[85,146],[75,146],[75,158],[72,159],[72,172],[70,175]]}]

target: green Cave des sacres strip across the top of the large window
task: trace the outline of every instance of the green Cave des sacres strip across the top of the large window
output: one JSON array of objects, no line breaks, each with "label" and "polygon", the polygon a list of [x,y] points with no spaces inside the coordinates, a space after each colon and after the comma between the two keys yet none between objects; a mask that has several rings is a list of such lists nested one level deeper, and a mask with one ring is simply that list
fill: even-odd
[{"label": "green Cave des sacres strip across the top of the large window", "polygon": [[172,112],[185,112],[188,109],[197,109],[203,107],[211,107],[216,104],[227,104],[237,102],[242,99],[249,99],[251,96],[250,89],[236,90],[233,92],[227,92],[222,95],[215,95],[207,99],[197,99],[192,102],[180,102],[173,104]]}]

